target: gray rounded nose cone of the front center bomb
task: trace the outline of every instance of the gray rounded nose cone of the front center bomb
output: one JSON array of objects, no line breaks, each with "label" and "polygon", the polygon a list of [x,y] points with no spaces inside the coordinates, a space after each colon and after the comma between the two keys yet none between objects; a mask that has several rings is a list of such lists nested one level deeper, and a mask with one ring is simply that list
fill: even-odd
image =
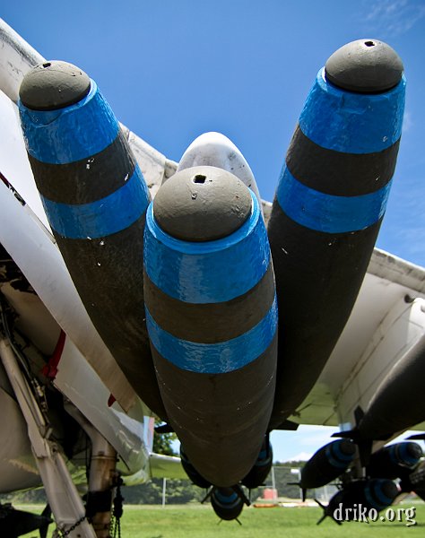
[{"label": "gray rounded nose cone of the front center bomb", "polygon": [[247,221],[252,199],[233,174],[212,166],[184,169],[169,178],[153,199],[160,228],[184,241],[229,236]]}]

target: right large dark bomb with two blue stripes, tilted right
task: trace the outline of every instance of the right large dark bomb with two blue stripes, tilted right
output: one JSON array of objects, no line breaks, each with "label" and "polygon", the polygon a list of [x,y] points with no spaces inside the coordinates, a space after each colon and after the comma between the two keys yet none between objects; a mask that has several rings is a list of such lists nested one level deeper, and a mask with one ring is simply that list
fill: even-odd
[{"label": "right large dark bomb with two blue stripes, tilted right", "polygon": [[308,395],[350,316],[386,209],[404,86],[392,48],[354,41],[319,71],[299,117],[268,224],[280,318],[272,427]]}]

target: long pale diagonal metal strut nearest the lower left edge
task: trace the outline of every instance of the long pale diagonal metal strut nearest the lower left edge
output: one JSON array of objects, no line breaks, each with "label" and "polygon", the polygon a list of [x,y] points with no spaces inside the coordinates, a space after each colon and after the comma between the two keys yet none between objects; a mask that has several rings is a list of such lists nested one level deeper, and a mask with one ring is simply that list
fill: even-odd
[{"label": "long pale diagonal metal strut nearest the lower left edge", "polygon": [[82,499],[66,468],[64,458],[56,444],[49,440],[51,430],[48,421],[41,412],[26,378],[22,375],[11,344],[1,335],[0,357],[27,422],[32,452],[46,490],[48,503],[55,516],[59,535],[70,538],[96,538],[92,526],[85,519]]}]

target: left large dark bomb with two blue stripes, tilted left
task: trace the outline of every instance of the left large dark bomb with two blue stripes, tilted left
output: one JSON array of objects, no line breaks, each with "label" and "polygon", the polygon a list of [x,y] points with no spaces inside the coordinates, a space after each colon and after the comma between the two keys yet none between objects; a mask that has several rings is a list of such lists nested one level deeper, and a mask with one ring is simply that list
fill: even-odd
[{"label": "left large dark bomb with two blue stripes, tilted left", "polygon": [[93,324],[136,393],[165,418],[144,323],[150,196],[95,82],[47,62],[22,82],[22,130],[57,245]]}]

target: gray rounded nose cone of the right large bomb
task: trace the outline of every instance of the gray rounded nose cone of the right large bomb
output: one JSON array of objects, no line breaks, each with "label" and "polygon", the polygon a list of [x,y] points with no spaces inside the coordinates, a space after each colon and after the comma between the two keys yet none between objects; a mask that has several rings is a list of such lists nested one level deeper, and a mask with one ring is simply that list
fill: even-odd
[{"label": "gray rounded nose cone of the right large bomb", "polygon": [[326,79],[343,90],[387,91],[400,82],[403,62],[383,41],[358,39],[338,48],[326,62]]}]

